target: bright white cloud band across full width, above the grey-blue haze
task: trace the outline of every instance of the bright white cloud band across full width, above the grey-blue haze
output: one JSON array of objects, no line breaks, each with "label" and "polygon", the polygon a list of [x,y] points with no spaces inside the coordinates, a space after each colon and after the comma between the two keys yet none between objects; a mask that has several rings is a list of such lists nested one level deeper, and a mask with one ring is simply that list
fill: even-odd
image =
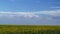
[{"label": "bright white cloud band across full width, above the grey-blue haze", "polygon": [[52,10],[52,11],[35,11],[35,12],[0,12],[0,17],[24,17],[24,18],[32,18],[32,17],[42,17],[41,14],[51,15],[51,16],[60,16],[60,10]]}]

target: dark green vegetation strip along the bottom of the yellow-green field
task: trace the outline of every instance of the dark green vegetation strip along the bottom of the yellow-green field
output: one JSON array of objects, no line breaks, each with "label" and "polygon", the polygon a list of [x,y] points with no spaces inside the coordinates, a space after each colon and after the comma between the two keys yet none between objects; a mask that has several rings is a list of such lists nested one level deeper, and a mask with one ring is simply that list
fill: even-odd
[{"label": "dark green vegetation strip along the bottom of the yellow-green field", "polygon": [[0,34],[60,34],[60,30],[40,30],[40,31],[6,31]]}]

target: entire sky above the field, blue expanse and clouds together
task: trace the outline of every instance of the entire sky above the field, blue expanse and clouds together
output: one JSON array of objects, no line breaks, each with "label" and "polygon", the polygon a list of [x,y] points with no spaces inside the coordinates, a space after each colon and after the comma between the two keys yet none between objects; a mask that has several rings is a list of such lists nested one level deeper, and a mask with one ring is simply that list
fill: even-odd
[{"label": "entire sky above the field, blue expanse and clouds together", "polygon": [[60,0],[0,0],[0,24],[60,25]]}]

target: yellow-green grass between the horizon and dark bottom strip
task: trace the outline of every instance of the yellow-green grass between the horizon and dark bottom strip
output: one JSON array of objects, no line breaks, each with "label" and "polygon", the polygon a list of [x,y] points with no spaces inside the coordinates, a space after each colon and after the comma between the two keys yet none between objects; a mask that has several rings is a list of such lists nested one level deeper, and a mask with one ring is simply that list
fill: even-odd
[{"label": "yellow-green grass between the horizon and dark bottom strip", "polygon": [[[48,32],[55,31],[60,32],[60,26],[40,26],[40,25],[0,25],[0,34],[2,33],[14,33],[16,32]],[[6,33],[6,34],[7,34]]]}]

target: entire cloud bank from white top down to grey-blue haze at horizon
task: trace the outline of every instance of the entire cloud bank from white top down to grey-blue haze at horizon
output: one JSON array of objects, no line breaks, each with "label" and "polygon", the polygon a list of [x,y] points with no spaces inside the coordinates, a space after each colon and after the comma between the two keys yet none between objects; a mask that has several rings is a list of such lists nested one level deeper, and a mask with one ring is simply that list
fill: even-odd
[{"label": "entire cloud bank from white top down to grey-blue haze at horizon", "polygon": [[1,22],[4,24],[60,25],[60,10],[37,12],[0,12],[0,23]]}]

